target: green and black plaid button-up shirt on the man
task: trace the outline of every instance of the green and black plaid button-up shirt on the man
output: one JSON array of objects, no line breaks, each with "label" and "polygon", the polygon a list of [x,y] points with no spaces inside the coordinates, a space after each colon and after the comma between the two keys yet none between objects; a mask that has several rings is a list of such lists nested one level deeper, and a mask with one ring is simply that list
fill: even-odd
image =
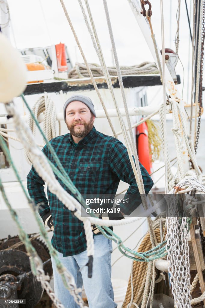
[{"label": "green and black plaid button-up shirt on the man", "polygon": [[[114,194],[119,181],[130,184],[125,194],[139,196],[139,190],[131,167],[126,147],[119,140],[104,135],[93,129],[75,145],[70,134],[56,137],[50,141],[62,166],[70,176],[79,192],[84,194]],[[56,165],[47,146],[42,151]],[[153,186],[153,181],[146,169],[140,164],[147,194]],[[59,183],[68,193],[70,191],[56,176]],[[48,200],[44,193],[44,181],[32,166],[27,176],[27,188],[35,204],[44,204],[39,209],[41,217],[51,212],[54,223],[52,245],[63,256],[70,256],[86,250],[86,238],[83,223],[74,217],[61,201],[48,190]],[[141,200],[140,196],[139,199]],[[141,203],[141,202],[140,202]],[[138,202],[139,205],[139,202]],[[122,212],[129,215],[135,208],[120,206]]]}]

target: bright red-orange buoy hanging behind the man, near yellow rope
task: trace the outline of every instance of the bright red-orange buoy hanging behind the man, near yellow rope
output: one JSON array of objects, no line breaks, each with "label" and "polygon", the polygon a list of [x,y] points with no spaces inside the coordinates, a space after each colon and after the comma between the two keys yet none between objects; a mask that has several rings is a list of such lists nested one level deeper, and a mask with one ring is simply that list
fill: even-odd
[{"label": "bright red-orange buoy hanging behind the man, near yellow rope", "polygon": [[151,174],[152,163],[149,150],[148,128],[146,122],[136,127],[136,143],[139,161],[145,167],[147,172]]}]

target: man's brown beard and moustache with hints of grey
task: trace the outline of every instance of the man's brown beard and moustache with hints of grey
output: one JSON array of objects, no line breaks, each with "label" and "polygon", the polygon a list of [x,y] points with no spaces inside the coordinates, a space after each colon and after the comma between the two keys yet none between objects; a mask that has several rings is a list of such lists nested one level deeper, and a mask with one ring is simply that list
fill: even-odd
[{"label": "man's brown beard and moustache with hints of grey", "polygon": [[[70,134],[74,137],[83,138],[85,137],[93,128],[93,115],[90,116],[90,121],[86,123],[85,121],[76,121],[72,125],[67,125],[67,128],[70,131]],[[84,128],[82,126],[79,126],[79,128],[75,128],[75,125],[77,124],[84,124]]]}]

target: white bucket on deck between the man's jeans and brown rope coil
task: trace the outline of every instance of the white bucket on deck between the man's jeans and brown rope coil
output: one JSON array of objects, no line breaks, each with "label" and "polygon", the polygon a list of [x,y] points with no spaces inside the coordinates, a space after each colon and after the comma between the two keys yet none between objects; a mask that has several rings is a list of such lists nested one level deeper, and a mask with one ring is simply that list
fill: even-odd
[{"label": "white bucket on deck between the man's jeans and brown rope coil", "polygon": [[111,281],[114,291],[114,300],[116,304],[118,304],[118,308],[121,308],[125,299],[128,282],[127,280],[116,278],[113,278]]}]

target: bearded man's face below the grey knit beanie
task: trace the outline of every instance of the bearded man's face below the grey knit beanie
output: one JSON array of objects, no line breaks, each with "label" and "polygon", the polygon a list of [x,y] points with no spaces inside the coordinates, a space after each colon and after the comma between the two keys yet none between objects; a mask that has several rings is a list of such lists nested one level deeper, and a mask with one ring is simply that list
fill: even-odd
[{"label": "bearded man's face below the grey knit beanie", "polygon": [[66,108],[66,125],[72,136],[85,137],[93,128],[94,118],[82,102],[73,101]]}]

